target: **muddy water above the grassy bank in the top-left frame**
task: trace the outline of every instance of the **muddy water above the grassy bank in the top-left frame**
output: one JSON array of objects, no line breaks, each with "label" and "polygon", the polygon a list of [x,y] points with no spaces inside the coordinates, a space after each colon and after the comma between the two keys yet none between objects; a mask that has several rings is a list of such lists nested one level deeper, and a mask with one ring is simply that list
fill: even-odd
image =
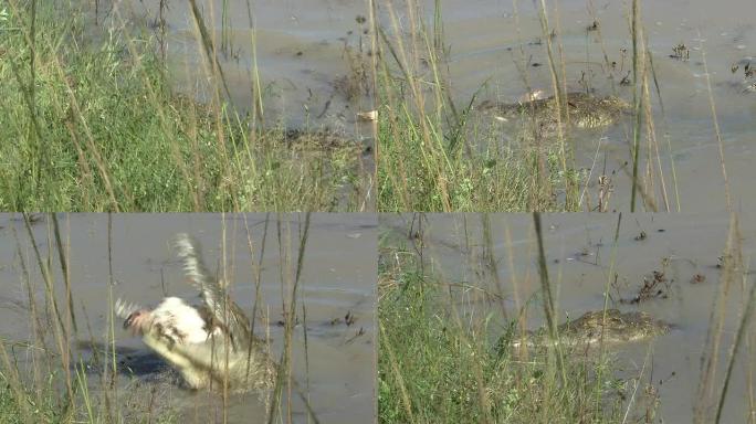
[{"label": "muddy water above the grassy bank in the top-left frame", "polygon": [[[128,25],[151,26],[159,32],[159,0],[126,1],[118,8]],[[187,1],[167,1],[166,51],[172,77],[200,99],[207,72],[198,32]],[[264,110],[270,123],[328,125],[369,135],[358,112],[372,108],[365,92],[349,88],[349,57],[367,59],[367,15],[364,2],[338,0],[198,1],[206,25],[216,38],[220,64],[234,105],[251,109],[254,66],[264,87]],[[223,9],[225,3],[227,9]],[[248,3],[250,9],[248,9]],[[254,29],[254,31],[252,30]],[[228,38],[228,39],[227,39]],[[252,40],[256,41],[253,43]],[[228,40],[228,43],[224,42]],[[351,86],[353,88],[355,86]]]}]

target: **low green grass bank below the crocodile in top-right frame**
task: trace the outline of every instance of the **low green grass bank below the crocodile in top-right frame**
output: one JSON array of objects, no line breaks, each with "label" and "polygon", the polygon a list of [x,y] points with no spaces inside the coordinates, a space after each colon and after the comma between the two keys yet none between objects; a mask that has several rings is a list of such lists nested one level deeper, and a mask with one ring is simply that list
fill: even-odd
[{"label": "low green grass bank below the crocodile in top-right frame", "polygon": [[561,188],[567,181],[576,188],[581,176],[559,171],[556,147],[521,149],[485,132],[460,134],[484,145],[465,151],[450,145],[443,118],[417,117],[406,104],[395,106],[399,109],[388,106],[381,115],[379,130],[380,211],[543,211],[575,203],[576,193]]}]

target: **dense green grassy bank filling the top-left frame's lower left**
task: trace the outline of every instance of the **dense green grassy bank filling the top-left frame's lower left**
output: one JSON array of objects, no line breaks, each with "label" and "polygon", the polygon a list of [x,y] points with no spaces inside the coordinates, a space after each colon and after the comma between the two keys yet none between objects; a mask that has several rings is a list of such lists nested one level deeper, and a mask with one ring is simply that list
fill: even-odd
[{"label": "dense green grassy bank filling the top-left frame's lower left", "polygon": [[358,142],[240,116],[218,66],[203,66],[198,104],[171,89],[150,32],[123,30],[118,13],[95,26],[67,1],[0,9],[0,210],[369,206]]}]

